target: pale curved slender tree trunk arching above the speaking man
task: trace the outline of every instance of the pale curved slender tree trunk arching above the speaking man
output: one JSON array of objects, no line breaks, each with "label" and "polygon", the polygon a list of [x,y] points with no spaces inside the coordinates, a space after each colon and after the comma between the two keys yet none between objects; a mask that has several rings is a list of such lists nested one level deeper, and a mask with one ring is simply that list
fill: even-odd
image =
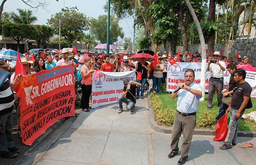
[{"label": "pale curved slender tree trunk arching above the speaking man", "polygon": [[[185,0],[186,1],[186,5],[188,6],[188,9],[192,15],[193,20],[195,21],[195,26],[198,30],[198,34],[199,34],[199,39],[200,39],[200,43],[202,46],[202,65],[201,65],[201,81],[200,81],[200,85],[202,87],[202,98],[200,99],[201,101],[204,101],[204,91],[205,91],[205,76],[206,76],[206,48],[205,48],[205,42],[204,42],[204,34],[202,31],[202,28],[200,26],[200,23],[198,21],[198,18],[195,14],[194,9],[191,6],[191,3],[189,2],[189,0]],[[213,36],[214,37],[214,36]]]}]

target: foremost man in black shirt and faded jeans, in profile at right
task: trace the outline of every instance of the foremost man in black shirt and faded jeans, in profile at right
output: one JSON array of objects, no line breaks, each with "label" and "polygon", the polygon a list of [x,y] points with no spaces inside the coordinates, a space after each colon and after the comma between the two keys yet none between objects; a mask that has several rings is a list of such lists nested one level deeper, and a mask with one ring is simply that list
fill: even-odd
[{"label": "foremost man in black shirt and faded jeans, in profile at right", "polygon": [[231,104],[226,111],[227,113],[230,111],[230,123],[224,145],[220,147],[221,150],[227,150],[232,148],[232,145],[236,145],[238,122],[244,114],[245,107],[250,100],[250,94],[252,92],[251,86],[244,80],[245,76],[246,72],[244,69],[239,68],[234,72],[234,80],[238,85],[233,89],[234,94]]}]

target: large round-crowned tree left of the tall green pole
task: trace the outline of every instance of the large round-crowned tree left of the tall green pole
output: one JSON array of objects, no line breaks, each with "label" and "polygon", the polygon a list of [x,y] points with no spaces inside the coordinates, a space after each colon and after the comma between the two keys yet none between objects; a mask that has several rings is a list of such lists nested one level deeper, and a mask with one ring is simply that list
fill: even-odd
[{"label": "large round-crowned tree left of the tall green pole", "polygon": [[80,41],[84,37],[84,31],[88,30],[89,19],[79,12],[77,7],[61,9],[61,12],[52,15],[48,24],[58,34],[59,19],[61,20],[61,36],[65,37],[69,44]]}]

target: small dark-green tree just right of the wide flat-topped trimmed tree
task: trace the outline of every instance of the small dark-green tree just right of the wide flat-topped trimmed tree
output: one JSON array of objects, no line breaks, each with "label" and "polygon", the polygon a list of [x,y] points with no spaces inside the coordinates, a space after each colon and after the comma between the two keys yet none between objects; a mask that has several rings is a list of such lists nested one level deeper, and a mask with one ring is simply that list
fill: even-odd
[{"label": "small dark-green tree just right of the wide flat-topped trimmed tree", "polygon": [[46,45],[49,42],[50,37],[53,35],[53,29],[49,26],[45,25],[35,25],[37,30],[37,35],[35,35],[35,40],[38,43],[38,48],[40,48],[40,44]]}]

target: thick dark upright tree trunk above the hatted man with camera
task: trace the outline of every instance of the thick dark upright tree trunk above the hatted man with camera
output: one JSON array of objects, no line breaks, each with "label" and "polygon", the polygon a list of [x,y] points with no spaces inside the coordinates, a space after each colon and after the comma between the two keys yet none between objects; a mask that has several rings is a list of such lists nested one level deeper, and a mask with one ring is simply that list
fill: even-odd
[{"label": "thick dark upright tree trunk above the hatted man with camera", "polygon": [[[209,15],[207,17],[208,22],[215,22],[215,0],[209,1]],[[212,29],[208,36],[208,54],[213,51],[214,52],[214,38],[215,38],[215,31]]]}]

